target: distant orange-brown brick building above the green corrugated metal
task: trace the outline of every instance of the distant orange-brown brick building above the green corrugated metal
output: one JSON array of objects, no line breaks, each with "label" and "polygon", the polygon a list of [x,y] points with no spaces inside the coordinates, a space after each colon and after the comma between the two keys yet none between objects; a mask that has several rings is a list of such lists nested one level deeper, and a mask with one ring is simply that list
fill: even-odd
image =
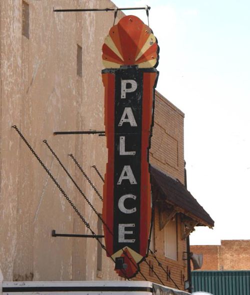
[{"label": "distant orange-brown brick building above the green corrugated metal", "polygon": [[203,254],[200,270],[250,269],[250,240],[221,240],[220,245],[193,245],[190,249]]}]

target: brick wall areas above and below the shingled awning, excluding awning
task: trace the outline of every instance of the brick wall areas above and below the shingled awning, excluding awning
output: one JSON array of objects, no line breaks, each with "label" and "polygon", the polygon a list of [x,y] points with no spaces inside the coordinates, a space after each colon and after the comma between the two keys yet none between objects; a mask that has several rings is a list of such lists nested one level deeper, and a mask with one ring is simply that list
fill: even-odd
[{"label": "brick wall areas above and below the shingled awning, excluding awning", "polygon": [[[149,162],[161,171],[173,176],[184,183],[184,150],[183,150],[183,119],[184,114],[171,104],[159,93],[155,93],[154,125],[152,130],[151,148]],[[177,260],[164,256],[164,229],[159,230],[158,207],[154,208],[154,230],[153,248],[157,259],[160,261],[164,270],[158,265],[157,261],[149,255],[147,262],[153,267],[161,281],[166,286],[184,289],[186,275],[186,261],[182,259],[183,251],[186,251],[186,241],[181,239],[181,220],[177,218]],[[150,269],[148,264],[142,262],[140,270],[150,281],[161,283],[157,276]],[[173,283],[168,272],[176,283]],[[137,274],[136,280],[143,280],[141,274]]]}]

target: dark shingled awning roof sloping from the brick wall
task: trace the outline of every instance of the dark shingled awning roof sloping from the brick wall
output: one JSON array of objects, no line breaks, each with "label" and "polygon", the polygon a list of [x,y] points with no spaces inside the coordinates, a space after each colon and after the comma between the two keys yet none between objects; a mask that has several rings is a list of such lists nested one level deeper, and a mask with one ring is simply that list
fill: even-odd
[{"label": "dark shingled awning roof sloping from the brick wall", "polygon": [[177,206],[179,211],[190,217],[196,217],[198,224],[208,227],[214,226],[214,221],[203,209],[185,186],[177,179],[168,176],[151,165],[152,193],[160,199]]}]

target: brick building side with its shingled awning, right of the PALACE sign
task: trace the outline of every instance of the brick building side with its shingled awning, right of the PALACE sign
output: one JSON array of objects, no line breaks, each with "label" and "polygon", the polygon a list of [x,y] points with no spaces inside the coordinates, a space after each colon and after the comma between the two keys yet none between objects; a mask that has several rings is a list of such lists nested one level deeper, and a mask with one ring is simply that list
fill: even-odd
[{"label": "brick building side with its shingled awning, right of the PALACE sign", "polygon": [[[194,226],[213,226],[210,216],[184,188],[183,122],[184,114],[156,92],[149,156],[154,211],[150,248],[161,266],[150,253],[149,265],[140,264],[149,280],[181,289],[188,278],[187,261],[183,259],[186,257],[187,235]],[[165,183],[169,186],[164,187]],[[189,207],[185,207],[185,202]],[[169,235],[174,235],[176,242]],[[167,244],[171,247],[170,253]],[[143,277],[138,274],[135,279],[143,280]]]}]

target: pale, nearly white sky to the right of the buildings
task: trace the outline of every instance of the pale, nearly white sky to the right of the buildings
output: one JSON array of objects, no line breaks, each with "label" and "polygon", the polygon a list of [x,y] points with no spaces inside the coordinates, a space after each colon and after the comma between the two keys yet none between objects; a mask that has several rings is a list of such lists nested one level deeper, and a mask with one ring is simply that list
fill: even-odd
[{"label": "pale, nearly white sky to the right of the buildings", "polygon": [[[215,221],[191,244],[250,239],[250,1],[113,0],[148,5],[157,90],[185,113],[187,187]],[[125,12],[147,24],[143,11]]]}]

